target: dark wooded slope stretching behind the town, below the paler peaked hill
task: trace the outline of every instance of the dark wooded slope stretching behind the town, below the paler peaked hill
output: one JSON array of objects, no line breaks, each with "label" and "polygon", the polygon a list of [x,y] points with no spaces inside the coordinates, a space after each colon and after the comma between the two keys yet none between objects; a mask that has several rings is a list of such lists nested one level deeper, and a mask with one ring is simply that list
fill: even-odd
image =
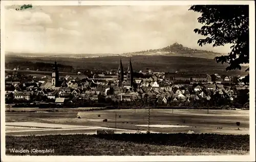
[{"label": "dark wooded slope stretching behind the town, below the paler peaked hill", "polygon": [[[121,57],[124,70],[129,65],[130,57]],[[133,68],[135,71],[146,70],[149,68],[153,71],[160,72],[187,72],[187,73],[208,73],[208,74],[224,74],[226,64],[217,63],[214,59],[184,57],[184,56],[163,56],[163,55],[134,55],[131,56]],[[38,62],[54,63],[52,57],[19,57],[6,56],[6,68],[14,68],[22,64],[24,69],[31,66],[37,66]],[[32,62],[32,63],[24,63]],[[57,63],[71,66],[71,70],[117,70],[120,62],[120,56],[106,56],[95,58],[68,58],[57,57]],[[39,67],[33,67],[37,69]],[[244,67],[243,67],[244,68]],[[50,69],[51,70],[51,69]],[[242,69],[243,70],[243,69]],[[73,71],[73,70],[72,70]],[[244,75],[245,72],[234,71],[228,72],[232,74]],[[242,74],[241,74],[242,73]]]}]

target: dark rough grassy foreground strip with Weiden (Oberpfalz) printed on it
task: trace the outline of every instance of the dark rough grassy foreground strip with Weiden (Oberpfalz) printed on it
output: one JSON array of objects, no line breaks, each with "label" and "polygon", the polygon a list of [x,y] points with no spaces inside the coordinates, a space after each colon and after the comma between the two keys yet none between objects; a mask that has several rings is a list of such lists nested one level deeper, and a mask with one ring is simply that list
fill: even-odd
[{"label": "dark rough grassy foreground strip with Weiden (Oberpfalz) printed on it", "polygon": [[[248,155],[249,135],[216,135],[206,134],[117,134],[104,135],[45,135],[45,136],[6,136],[7,155]],[[176,143],[165,145],[161,136],[167,136]],[[115,136],[115,137],[114,137]],[[125,141],[139,139],[140,142]],[[136,137],[135,137],[136,136]],[[158,142],[148,139],[158,137]],[[173,138],[176,136],[176,138]],[[177,137],[186,138],[178,138]],[[108,138],[108,139],[104,139]],[[212,138],[210,138],[212,137]],[[231,137],[231,138],[230,138]],[[114,140],[112,140],[114,139]],[[121,140],[122,139],[122,140]],[[126,140],[128,138],[125,138]],[[166,140],[166,138],[164,138]],[[173,140],[171,140],[173,139]],[[212,140],[214,139],[214,140]],[[178,141],[177,141],[178,140]],[[191,145],[192,144],[192,145]],[[178,145],[178,146],[175,146]],[[179,147],[186,146],[186,147]],[[220,148],[218,148],[221,146]],[[11,153],[10,149],[54,149],[54,153]],[[216,149],[218,148],[218,149]]]}]

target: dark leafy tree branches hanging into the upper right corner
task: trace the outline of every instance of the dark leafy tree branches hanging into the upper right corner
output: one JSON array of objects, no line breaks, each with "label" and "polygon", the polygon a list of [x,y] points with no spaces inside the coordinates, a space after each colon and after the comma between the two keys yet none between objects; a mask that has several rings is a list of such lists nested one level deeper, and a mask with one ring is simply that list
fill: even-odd
[{"label": "dark leafy tree branches hanging into the upper right corner", "polygon": [[198,22],[205,26],[194,30],[206,37],[198,40],[200,46],[232,45],[228,55],[215,58],[229,64],[226,71],[241,70],[241,64],[249,63],[249,5],[193,5],[189,10],[202,13]]}]

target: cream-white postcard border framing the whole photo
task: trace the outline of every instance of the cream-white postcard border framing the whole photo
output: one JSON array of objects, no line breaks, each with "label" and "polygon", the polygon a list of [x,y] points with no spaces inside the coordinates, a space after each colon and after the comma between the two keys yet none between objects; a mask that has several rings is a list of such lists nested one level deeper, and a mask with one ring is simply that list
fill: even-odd
[{"label": "cream-white postcard border framing the whole photo", "polygon": [[255,4],[254,1],[80,1],[80,5],[249,5],[250,155],[248,156],[6,156],[5,155],[5,6],[77,6],[78,1],[1,1],[1,161],[255,161]]}]

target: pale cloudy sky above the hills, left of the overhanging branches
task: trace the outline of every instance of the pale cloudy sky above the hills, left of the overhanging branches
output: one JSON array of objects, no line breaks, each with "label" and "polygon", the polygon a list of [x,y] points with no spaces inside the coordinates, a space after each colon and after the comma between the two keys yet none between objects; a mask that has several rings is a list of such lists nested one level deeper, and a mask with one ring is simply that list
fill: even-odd
[{"label": "pale cloudy sky above the hills, left of the overhanging branches", "polygon": [[124,53],[166,47],[227,53],[199,47],[199,13],[189,6],[33,6],[6,8],[6,51],[27,53]]}]

